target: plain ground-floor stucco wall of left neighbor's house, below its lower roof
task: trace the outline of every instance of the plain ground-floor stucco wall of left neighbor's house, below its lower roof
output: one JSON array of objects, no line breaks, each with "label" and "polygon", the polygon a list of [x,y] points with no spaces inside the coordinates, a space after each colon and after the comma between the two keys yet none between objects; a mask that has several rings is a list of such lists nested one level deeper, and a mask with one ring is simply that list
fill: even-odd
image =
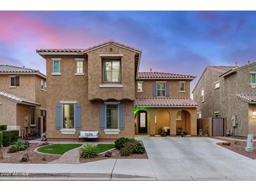
[{"label": "plain ground-floor stucco wall of left neighbor's house, below its lower roof", "polygon": [[0,125],[15,126],[16,102],[0,97]]}]

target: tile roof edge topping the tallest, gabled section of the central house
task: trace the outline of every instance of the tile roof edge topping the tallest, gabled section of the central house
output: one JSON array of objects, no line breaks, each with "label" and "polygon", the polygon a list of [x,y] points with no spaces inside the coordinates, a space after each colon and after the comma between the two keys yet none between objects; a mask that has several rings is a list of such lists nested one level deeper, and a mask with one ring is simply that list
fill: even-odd
[{"label": "tile roof edge topping the tallest, gabled section of the central house", "polygon": [[100,47],[100,46],[105,46],[107,44],[116,44],[116,45],[119,45],[119,46],[123,46],[125,48],[135,50],[137,52],[141,52],[140,49],[134,48],[132,46],[128,46],[126,44],[123,44],[123,43],[120,43],[120,42],[114,41],[114,40],[105,41],[103,43],[100,43],[100,44],[97,44],[95,46],[91,46],[91,47],[88,47],[88,48],[50,48],[50,49],[41,48],[41,49],[37,49],[36,52],[37,53],[42,53],[42,52],[48,52],[48,53],[84,53],[88,50],[92,50],[92,49]]}]

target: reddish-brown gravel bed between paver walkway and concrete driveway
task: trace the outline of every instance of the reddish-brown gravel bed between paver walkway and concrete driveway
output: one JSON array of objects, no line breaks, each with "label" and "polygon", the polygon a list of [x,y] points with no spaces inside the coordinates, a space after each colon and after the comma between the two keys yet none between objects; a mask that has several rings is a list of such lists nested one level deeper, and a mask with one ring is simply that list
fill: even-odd
[{"label": "reddish-brown gravel bed between paver walkway and concrete driveway", "polygon": [[[117,150],[117,149],[113,149],[111,152],[112,152],[112,157],[109,157],[109,158],[148,158],[147,152],[145,152],[143,154],[130,154],[130,156],[121,156],[119,153],[119,150]],[[81,158],[80,157],[80,163],[88,163],[88,162],[92,162],[92,161],[96,161],[96,160],[105,160],[105,159],[109,159],[109,158],[105,157],[105,153],[100,153],[99,156],[97,156],[96,158]]]}]

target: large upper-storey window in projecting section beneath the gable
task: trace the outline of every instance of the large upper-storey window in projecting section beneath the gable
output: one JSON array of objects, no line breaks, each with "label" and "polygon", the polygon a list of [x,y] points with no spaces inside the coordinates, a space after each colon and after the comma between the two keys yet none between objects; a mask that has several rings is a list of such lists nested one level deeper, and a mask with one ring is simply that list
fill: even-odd
[{"label": "large upper-storey window in projecting section beneath the gable", "polygon": [[114,83],[121,81],[120,61],[103,62],[103,81]]}]

